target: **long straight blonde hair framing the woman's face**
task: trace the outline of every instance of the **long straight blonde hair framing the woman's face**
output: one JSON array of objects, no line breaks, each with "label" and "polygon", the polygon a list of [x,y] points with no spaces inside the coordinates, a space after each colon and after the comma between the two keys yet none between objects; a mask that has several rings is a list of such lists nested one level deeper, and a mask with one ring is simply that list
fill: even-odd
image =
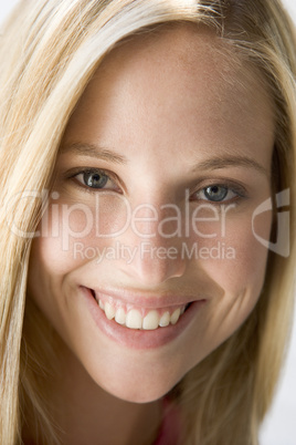
[{"label": "long straight blonde hair framing the woman's face", "polygon": [[[212,28],[261,71],[275,104],[275,192],[289,188],[295,231],[296,46],[278,0],[21,1],[0,39],[2,444],[21,443],[23,410],[29,408],[39,443],[59,444],[42,385],[47,375],[42,359],[54,360],[51,330],[35,308],[25,307],[25,292],[29,234],[40,220],[40,196],[50,187],[67,121],[98,64],[119,41],[178,21]],[[25,194],[30,199],[18,199]],[[183,413],[183,444],[216,445],[221,437],[228,445],[257,444],[286,351],[294,265],[293,239],[289,258],[269,252],[252,314],[172,391]]]}]

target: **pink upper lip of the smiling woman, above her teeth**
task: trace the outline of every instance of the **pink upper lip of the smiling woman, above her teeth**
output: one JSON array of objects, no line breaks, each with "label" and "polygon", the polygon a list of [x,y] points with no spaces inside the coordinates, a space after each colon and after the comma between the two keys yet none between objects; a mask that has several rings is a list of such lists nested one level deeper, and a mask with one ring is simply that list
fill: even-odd
[{"label": "pink upper lip of the smiling woman, above her teeth", "polygon": [[114,300],[118,300],[124,304],[131,304],[140,308],[147,309],[161,309],[171,306],[183,306],[191,303],[193,301],[204,301],[207,300],[205,296],[199,294],[199,292],[194,293],[186,293],[181,292],[146,292],[146,291],[137,291],[130,289],[101,289],[101,288],[89,288],[96,294],[96,298],[99,299],[99,294],[106,297],[112,297]]}]

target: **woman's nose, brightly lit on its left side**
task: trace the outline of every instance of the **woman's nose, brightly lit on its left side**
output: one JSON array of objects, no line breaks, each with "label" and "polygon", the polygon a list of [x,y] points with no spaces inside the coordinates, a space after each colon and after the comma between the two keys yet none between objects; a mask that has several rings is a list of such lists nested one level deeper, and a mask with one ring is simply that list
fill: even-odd
[{"label": "woman's nose, brightly lit on its left side", "polygon": [[157,218],[156,214],[151,216],[151,209],[146,208],[140,218],[131,221],[128,232],[121,239],[133,255],[130,261],[123,263],[121,271],[142,287],[149,288],[171,278],[182,277],[186,260],[177,224],[177,219],[168,218],[165,229],[163,218]]}]

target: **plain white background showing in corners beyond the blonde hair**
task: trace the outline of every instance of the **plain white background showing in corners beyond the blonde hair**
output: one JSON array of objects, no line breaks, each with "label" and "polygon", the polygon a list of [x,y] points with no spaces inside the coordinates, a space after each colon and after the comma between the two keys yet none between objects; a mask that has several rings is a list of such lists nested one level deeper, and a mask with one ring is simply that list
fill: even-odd
[{"label": "plain white background showing in corners beyond the blonde hair", "polygon": [[[296,0],[283,1],[296,22]],[[15,3],[17,0],[0,0],[0,21]],[[296,313],[287,362],[275,403],[262,428],[261,445],[296,445]]]}]

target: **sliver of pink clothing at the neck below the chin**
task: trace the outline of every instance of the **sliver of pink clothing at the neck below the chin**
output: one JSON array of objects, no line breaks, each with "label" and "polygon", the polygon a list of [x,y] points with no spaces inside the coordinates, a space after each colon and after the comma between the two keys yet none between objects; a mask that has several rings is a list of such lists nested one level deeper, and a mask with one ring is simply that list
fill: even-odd
[{"label": "sliver of pink clothing at the neck below the chin", "polygon": [[178,445],[181,435],[181,417],[178,408],[163,400],[163,421],[154,445]]}]

